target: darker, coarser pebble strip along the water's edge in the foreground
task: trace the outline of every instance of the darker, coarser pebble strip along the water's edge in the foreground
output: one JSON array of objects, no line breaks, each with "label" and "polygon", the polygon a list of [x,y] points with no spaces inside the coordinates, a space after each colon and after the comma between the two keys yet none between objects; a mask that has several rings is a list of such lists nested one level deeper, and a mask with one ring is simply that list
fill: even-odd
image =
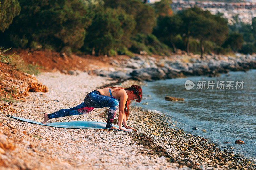
[{"label": "darker, coarser pebble strip along the water's edge in the foreground", "polygon": [[[168,155],[167,157],[170,158],[170,162],[172,163],[177,163],[179,166],[189,167],[191,169],[256,168],[256,162],[253,162],[252,158],[234,154],[234,152],[228,151],[228,149],[226,149],[225,152],[221,151],[210,140],[179,129],[172,118],[165,113],[154,112],[140,107],[133,107],[133,109],[137,110],[137,113],[139,111],[140,116],[142,116],[143,113],[148,115],[146,118],[146,120],[148,119],[147,122],[141,121],[144,127],[140,125],[140,123],[135,123],[136,127],[139,127],[143,134],[146,134],[147,137],[158,145],[158,148],[161,148],[161,150],[158,149],[156,153],[160,156],[164,152]],[[155,117],[159,117],[159,120]],[[156,123],[153,122],[162,125],[158,128],[154,128]],[[145,130],[145,127],[147,130]],[[138,135],[136,135],[134,141],[137,141],[137,139]],[[143,144],[143,142],[139,142],[139,144]]]}]

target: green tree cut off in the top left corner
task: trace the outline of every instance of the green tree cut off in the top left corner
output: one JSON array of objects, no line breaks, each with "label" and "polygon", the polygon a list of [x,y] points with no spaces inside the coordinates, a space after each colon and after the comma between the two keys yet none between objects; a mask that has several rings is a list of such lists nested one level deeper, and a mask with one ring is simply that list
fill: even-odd
[{"label": "green tree cut off in the top left corner", "polygon": [[18,0],[0,1],[0,31],[4,32],[12,23],[14,17],[20,13],[20,4]]}]

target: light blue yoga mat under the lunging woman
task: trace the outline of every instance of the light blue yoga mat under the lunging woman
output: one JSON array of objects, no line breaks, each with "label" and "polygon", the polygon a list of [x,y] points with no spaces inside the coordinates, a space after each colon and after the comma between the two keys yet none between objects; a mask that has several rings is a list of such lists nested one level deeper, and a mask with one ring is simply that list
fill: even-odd
[{"label": "light blue yoga mat under the lunging woman", "polygon": [[[44,125],[44,126],[52,126],[52,127],[57,127],[57,128],[74,128],[74,129],[105,129],[106,124],[104,122],[95,122],[95,121],[72,121],[72,122],[54,122],[54,123],[47,123],[42,124],[40,122],[33,121],[31,119],[25,119],[22,117],[16,117],[16,116],[11,116],[14,119],[18,119],[21,121],[29,122],[29,123],[35,123],[39,125]],[[119,128],[118,125],[113,125],[116,128]],[[132,129],[126,129],[129,130],[130,132]],[[123,130],[119,130],[123,131]]]}]

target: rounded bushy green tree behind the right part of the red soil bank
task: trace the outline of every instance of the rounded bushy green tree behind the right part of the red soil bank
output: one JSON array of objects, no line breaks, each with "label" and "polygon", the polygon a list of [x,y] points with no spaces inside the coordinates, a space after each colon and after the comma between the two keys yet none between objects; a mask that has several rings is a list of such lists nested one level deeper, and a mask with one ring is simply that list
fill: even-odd
[{"label": "rounded bushy green tree behind the right part of the red soil bank", "polygon": [[[131,24],[131,25],[130,25]],[[132,16],[121,9],[106,8],[96,13],[92,24],[87,29],[84,51],[95,51],[110,55],[110,50],[122,46],[122,42],[129,40],[135,28]]]}]

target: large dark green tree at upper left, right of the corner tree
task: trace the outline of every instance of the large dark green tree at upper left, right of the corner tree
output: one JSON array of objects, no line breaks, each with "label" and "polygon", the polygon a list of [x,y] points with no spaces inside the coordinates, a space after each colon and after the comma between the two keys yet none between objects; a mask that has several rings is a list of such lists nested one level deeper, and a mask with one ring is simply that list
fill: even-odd
[{"label": "large dark green tree at upper left, right of the corner tree", "polygon": [[85,28],[93,18],[87,1],[20,0],[20,6],[20,15],[4,32],[11,46],[31,47],[36,42],[60,50],[83,45]]}]

